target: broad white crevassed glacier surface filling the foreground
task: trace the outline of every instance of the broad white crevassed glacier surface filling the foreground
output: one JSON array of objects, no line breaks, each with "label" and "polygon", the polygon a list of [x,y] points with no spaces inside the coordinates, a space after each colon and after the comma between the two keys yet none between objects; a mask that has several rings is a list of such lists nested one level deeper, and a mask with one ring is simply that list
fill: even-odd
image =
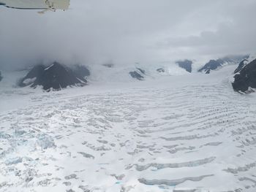
[{"label": "broad white crevassed glacier surface filling the foreground", "polygon": [[50,93],[3,72],[0,191],[255,192],[256,94],[235,68]]}]

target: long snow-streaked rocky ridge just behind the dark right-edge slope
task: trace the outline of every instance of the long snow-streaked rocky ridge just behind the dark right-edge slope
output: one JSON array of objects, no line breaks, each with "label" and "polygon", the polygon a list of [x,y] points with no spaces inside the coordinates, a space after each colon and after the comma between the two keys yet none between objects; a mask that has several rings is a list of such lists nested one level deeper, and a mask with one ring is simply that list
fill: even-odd
[{"label": "long snow-streaked rocky ridge just behind the dark right-edge slope", "polygon": [[224,58],[219,58],[217,60],[211,60],[201,69],[199,69],[198,72],[210,74],[211,70],[219,69],[223,66],[223,64],[238,64],[247,58],[249,58],[249,55],[233,55]]}]

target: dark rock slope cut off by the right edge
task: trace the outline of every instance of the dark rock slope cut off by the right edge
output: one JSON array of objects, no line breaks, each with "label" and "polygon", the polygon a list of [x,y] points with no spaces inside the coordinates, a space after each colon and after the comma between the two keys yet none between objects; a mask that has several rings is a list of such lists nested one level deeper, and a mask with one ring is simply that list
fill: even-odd
[{"label": "dark rock slope cut off by the right edge", "polygon": [[235,80],[232,83],[234,91],[244,93],[252,92],[252,88],[256,88],[256,59],[242,67],[235,74],[234,78]]}]

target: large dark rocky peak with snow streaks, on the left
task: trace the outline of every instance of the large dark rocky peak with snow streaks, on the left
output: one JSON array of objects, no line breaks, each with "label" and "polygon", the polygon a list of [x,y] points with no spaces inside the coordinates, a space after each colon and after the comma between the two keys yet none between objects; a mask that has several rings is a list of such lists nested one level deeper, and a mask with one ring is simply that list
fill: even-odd
[{"label": "large dark rocky peak with snow streaks, on the left", "polygon": [[76,74],[66,66],[54,62],[52,65],[45,67],[43,65],[34,66],[33,69],[20,80],[20,87],[30,85],[31,88],[36,88],[38,85],[42,85],[45,91],[61,90],[61,88],[67,88],[67,86],[83,86],[86,85],[86,80],[81,74]]}]

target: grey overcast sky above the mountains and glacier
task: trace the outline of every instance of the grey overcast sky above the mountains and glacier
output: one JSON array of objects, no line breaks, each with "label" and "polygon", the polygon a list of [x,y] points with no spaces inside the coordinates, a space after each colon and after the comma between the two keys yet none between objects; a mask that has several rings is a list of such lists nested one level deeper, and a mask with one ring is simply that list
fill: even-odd
[{"label": "grey overcast sky above the mountains and glacier", "polygon": [[[17,0],[18,1],[18,0]],[[159,64],[254,53],[255,0],[71,0],[63,12],[0,7],[0,69]]]}]

